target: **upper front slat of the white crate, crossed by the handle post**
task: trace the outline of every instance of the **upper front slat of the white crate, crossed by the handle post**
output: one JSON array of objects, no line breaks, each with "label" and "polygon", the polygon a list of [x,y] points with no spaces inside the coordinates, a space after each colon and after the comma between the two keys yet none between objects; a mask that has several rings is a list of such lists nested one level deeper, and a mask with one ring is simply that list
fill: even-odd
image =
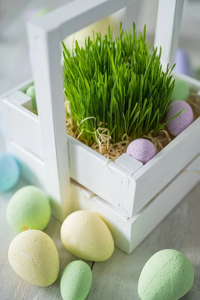
[{"label": "upper front slat of the white crate, crossed by the handle post", "polygon": [[[4,132],[15,143],[43,159],[42,139],[38,117],[23,106],[17,105],[9,97],[2,101],[2,124]],[[107,160],[104,156],[68,136],[70,176],[112,203],[121,212],[126,211],[127,192],[130,192],[132,209],[134,182],[130,173],[122,165]],[[132,158],[132,157],[131,157]],[[129,214],[130,211],[126,211]]]}]

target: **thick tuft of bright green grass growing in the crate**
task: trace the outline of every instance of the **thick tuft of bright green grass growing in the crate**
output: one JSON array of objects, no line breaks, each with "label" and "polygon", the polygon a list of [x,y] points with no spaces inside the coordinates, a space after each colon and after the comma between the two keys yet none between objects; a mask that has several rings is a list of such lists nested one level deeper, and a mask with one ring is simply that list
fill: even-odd
[{"label": "thick tuft of bright green grass growing in the crate", "polygon": [[65,95],[88,143],[98,127],[107,128],[114,143],[124,133],[139,138],[165,125],[161,120],[174,86],[174,66],[162,71],[161,48],[151,49],[145,42],[145,26],[138,37],[134,22],[133,33],[121,24],[119,29],[115,40],[108,28],[103,37],[85,38],[84,48],[75,41],[72,52],[63,44]]}]

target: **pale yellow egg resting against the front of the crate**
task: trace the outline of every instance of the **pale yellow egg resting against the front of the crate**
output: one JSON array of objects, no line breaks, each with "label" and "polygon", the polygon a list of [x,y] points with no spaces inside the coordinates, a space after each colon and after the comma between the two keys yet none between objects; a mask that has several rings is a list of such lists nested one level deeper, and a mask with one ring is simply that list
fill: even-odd
[{"label": "pale yellow egg resting against the front of the crate", "polygon": [[114,250],[111,232],[95,212],[72,212],[63,221],[60,235],[65,248],[82,259],[106,260]]}]

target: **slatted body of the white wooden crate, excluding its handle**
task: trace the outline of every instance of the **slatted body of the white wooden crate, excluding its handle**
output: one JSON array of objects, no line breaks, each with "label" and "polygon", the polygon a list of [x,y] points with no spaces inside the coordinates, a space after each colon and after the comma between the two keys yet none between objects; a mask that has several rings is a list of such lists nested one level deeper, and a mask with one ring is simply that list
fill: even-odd
[{"label": "slatted body of the white wooden crate, excluding its handle", "polygon": [[[115,245],[128,253],[199,181],[196,93],[200,84],[187,76],[183,78],[190,86],[189,103],[195,120],[177,137],[170,136],[171,142],[167,144],[165,140],[164,148],[143,166],[140,163],[138,167],[125,153],[106,165],[103,155],[68,136],[73,195],[71,202],[66,203],[68,212],[96,211],[108,224]],[[40,124],[32,112],[30,96],[24,93],[30,84],[32,80],[2,98],[1,124],[8,151],[18,158],[22,175],[48,193]],[[127,161],[121,160],[123,155],[128,156]],[[183,172],[184,168],[188,171]],[[59,204],[53,201],[52,207],[53,215],[60,218]]]}]

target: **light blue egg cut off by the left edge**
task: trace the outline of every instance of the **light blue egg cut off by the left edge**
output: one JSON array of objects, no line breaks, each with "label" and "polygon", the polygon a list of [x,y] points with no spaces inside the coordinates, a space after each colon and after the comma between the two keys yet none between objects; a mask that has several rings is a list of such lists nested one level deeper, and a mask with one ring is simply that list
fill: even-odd
[{"label": "light blue egg cut off by the left edge", "polygon": [[18,182],[19,165],[16,159],[8,153],[0,152],[0,192],[10,190]]}]

